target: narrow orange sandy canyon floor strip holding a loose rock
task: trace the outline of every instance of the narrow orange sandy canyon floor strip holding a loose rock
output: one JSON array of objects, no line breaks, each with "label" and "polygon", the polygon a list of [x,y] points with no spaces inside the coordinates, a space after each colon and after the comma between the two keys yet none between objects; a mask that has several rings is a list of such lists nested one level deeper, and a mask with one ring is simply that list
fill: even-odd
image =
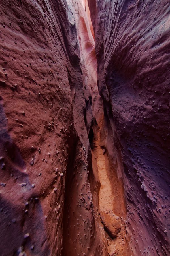
[{"label": "narrow orange sandy canyon floor strip holding a loose rock", "polygon": [[[105,238],[107,239],[107,253],[108,255],[129,256],[129,245],[126,236],[126,229],[124,218],[117,216],[114,213],[114,198],[118,193],[114,194],[112,186],[113,180],[109,179],[109,165],[107,152],[104,147],[101,147],[101,130],[99,127],[103,125],[103,118],[101,119],[97,128],[94,129],[95,136],[92,142],[92,158],[97,162],[97,171],[100,181],[100,188],[98,194],[99,200],[99,216],[100,221],[105,228]],[[102,149],[103,148],[103,149]],[[95,168],[95,165],[94,165]],[[112,185],[111,185],[112,183]],[[119,188],[121,189],[121,187]],[[121,194],[121,193],[120,193]],[[122,198],[118,198],[121,205]]]}]

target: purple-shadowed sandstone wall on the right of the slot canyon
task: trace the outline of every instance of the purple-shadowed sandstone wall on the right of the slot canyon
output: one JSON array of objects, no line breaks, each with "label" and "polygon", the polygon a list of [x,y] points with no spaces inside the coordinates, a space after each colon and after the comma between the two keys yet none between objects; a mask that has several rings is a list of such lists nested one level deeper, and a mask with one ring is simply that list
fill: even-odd
[{"label": "purple-shadowed sandstone wall on the right of the slot canyon", "polygon": [[169,255],[169,1],[88,3],[113,136],[105,145],[122,154],[131,254]]}]

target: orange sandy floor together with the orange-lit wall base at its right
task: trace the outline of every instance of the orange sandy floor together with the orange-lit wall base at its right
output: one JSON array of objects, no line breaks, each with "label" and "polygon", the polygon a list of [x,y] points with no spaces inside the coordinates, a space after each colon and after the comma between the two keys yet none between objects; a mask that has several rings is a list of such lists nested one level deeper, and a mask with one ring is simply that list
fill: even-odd
[{"label": "orange sandy floor together with the orange-lit wall base at its right", "polygon": [[[131,255],[131,249],[129,248],[129,237],[127,236],[124,222],[127,214],[124,189],[122,180],[118,178],[114,159],[111,159],[108,150],[104,148],[107,137],[110,140],[112,137],[111,134],[106,137],[105,131],[108,128],[105,126],[105,118],[103,118],[102,114],[101,120],[98,124],[95,122],[92,129],[94,131],[94,139],[90,144],[92,166],[93,172],[94,174],[97,172],[100,182],[98,192],[99,205],[97,206],[99,211],[96,209],[96,212],[98,212],[99,220],[105,230],[104,238],[107,245],[107,253],[108,255],[129,256]],[[104,155],[103,151],[105,152]]]}]

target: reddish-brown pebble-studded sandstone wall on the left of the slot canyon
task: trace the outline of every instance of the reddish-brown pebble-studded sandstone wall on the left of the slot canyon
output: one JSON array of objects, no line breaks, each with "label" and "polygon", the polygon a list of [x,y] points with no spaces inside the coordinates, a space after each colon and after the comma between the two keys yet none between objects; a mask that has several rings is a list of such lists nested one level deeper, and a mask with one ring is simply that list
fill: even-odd
[{"label": "reddish-brown pebble-studded sandstone wall on the left of the slot canyon", "polygon": [[103,252],[71,15],[63,0],[1,2],[1,255]]}]

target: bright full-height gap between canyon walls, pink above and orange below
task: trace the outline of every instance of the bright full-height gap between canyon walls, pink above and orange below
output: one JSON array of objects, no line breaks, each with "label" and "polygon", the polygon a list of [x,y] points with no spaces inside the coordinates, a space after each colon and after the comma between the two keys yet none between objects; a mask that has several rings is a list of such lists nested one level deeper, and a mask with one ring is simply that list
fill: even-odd
[{"label": "bright full-height gap between canyon walls, pink above and orange below", "polygon": [[[114,170],[114,179],[109,179],[108,173],[111,172],[109,164],[112,166],[112,162],[109,163],[107,154],[103,154],[103,150],[100,146],[101,142],[101,131],[99,127],[102,127],[104,123],[104,110],[103,102],[99,96],[99,91],[97,88],[97,60],[95,55],[95,44],[94,44],[94,31],[92,28],[92,23],[90,19],[90,13],[87,1],[72,1],[67,0],[69,7],[72,8],[73,13],[75,13],[75,23],[78,32],[78,42],[80,45],[80,58],[82,63],[82,73],[84,77],[84,95],[86,100],[86,117],[88,117],[89,112],[92,112],[92,123],[94,123],[94,131],[91,130],[92,134],[95,134],[96,140],[92,137],[92,162],[97,163],[97,169],[95,165],[92,165],[92,172],[96,172],[97,179],[99,179],[100,189],[97,195],[97,201],[99,203],[99,219],[96,221],[98,225],[102,228],[104,226],[105,233],[103,233],[103,240],[106,244],[106,251],[108,255],[120,255],[128,256],[130,255],[128,248],[128,241],[126,238],[125,223],[123,216],[117,216],[114,212],[114,203],[117,197],[117,201],[120,204],[120,208],[124,201],[123,194],[120,192],[122,189],[118,187],[118,191],[112,189],[115,186],[114,179],[117,180],[116,170]],[[72,4],[71,4],[72,3]],[[90,96],[89,96],[90,94]],[[87,98],[86,98],[87,97]],[[96,100],[97,99],[97,100]],[[100,104],[99,104],[100,102]],[[90,103],[90,104],[89,104]],[[91,116],[91,114],[90,114]],[[91,117],[90,117],[91,118]],[[99,124],[96,124],[96,119]],[[90,120],[88,120],[90,124]],[[97,128],[98,127],[98,128]],[[90,135],[90,130],[88,123],[86,124],[86,129]],[[92,128],[90,128],[92,129]],[[107,127],[106,127],[107,130]],[[93,136],[93,135],[92,135]],[[107,145],[106,145],[107,146]],[[115,158],[115,156],[113,156]],[[94,158],[94,159],[93,159]],[[107,160],[106,160],[107,158]],[[107,166],[108,165],[108,166]],[[94,168],[94,169],[93,169]],[[95,170],[96,169],[96,170]],[[112,183],[112,187],[111,187]],[[92,201],[94,201],[92,193]],[[123,209],[122,209],[123,210]],[[126,213],[124,214],[126,216]],[[101,222],[101,223],[100,223]],[[103,223],[103,224],[102,224]],[[111,232],[108,235],[107,232]],[[104,252],[100,252],[104,255]],[[66,251],[65,251],[66,254]]]}]

